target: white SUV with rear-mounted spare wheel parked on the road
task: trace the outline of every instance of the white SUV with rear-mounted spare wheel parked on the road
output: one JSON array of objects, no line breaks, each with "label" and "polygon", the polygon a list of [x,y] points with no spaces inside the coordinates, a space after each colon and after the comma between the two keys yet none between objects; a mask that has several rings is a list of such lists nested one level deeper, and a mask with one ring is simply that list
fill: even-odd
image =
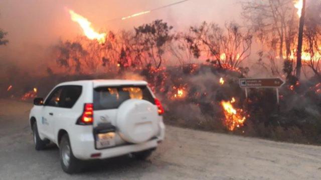
[{"label": "white SUV with rear-mounted spare wheel parked on the road", "polygon": [[79,171],[82,160],[146,158],[165,136],[164,109],[146,81],[63,82],[34,104],[29,119],[36,149],[56,143],[67,173]]}]

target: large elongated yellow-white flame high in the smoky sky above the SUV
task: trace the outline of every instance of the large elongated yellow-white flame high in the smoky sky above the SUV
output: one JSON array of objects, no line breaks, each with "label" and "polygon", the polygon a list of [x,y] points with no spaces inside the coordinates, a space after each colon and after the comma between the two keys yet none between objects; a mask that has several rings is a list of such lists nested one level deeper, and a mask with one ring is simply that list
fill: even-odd
[{"label": "large elongated yellow-white flame high in the smoky sky above the SUV", "polygon": [[85,17],[77,14],[73,10],[69,10],[69,13],[71,15],[71,19],[75,22],[77,22],[81,28],[83,29],[85,35],[93,40],[96,39],[99,43],[104,43],[105,42],[105,36],[106,33],[98,33],[96,32],[92,27],[91,27],[91,22],[88,21]]}]

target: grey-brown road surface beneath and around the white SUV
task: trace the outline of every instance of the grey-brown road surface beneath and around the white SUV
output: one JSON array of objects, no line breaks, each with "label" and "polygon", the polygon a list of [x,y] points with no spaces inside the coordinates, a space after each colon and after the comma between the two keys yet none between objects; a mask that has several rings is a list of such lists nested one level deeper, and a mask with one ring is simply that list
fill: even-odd
[{"label": "grey-brown road surface beneath and around the white SUV", "polygon": [[62,171],[58,148],[36,151],[30,103],[0,99],[0,179],[320,179],[321,147],[167,126],[147,161],[122,156]]}]

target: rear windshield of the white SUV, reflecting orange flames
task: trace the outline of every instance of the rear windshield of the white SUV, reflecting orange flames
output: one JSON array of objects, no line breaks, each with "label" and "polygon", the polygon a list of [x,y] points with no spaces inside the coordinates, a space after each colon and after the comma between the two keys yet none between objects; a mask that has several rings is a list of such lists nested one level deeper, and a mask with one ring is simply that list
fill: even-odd
[{"label": "rear windshield of the white SUV, reflecting orange flames", "polygon": [[154,103],[147,86],[105,86],[94,88],[94,110],[114,109],[127,99],[144,99]]}]

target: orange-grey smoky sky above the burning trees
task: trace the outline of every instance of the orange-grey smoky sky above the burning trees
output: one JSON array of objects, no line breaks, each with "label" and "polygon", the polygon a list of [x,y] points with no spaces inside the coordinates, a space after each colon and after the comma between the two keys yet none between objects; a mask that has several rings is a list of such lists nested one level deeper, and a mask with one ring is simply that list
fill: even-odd
[{"label": "orange-grey smoky sky above the burning trees", "polygon": [[221,25],[239,21],[238,0],[189,0],[171,7],[126,20],[109,20],[153,9],[180,0],[0,0],[0,28],[8,32],[9,43],[0,46],[1,66],[16,64],[30,69],[45,68],[49,49],[59,39],[82,34],[66,8],[92,22],[95,30],[131,29],[155,19],[163,19],[174,30],[187,30],[202,21]]}]

